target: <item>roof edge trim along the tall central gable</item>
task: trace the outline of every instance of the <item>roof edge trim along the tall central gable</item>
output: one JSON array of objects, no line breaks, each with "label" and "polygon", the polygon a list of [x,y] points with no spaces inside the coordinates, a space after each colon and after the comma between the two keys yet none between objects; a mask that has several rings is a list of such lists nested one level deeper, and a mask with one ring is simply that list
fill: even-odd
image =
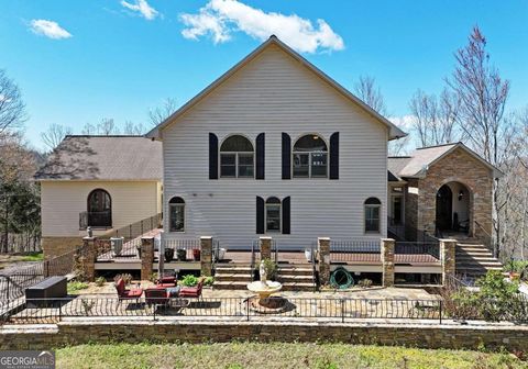
[{"label": "roof edge trim along the tall central gable", "polygon": [[262,43],[257,48],[255,48],[252,53],[250,53],[245,58],[243,58],[241,62],[235,64],[231,69],[229,69],[227,72],[224,72],[222,76],[220,76],[211,85],[206,87],[197,96],[195,96],[193,99],[187,101],[182,108],[179,108],[176,112],[174,112],[165,121],[163,121],[156,127],[154,127],[152,131],[150,131],[146,134],[146,136],[151,137],[151,138],[162,138],[161,134],[160,134],[161,130],[165,128],[167,125],[169,125],[174,121],[176,121],[180,115],[183,115],[185,112],[187,112],[189,109],[191,109],[195,104],[197,104],[199,101],[201,101],[212,90],[215,90],[218,86],[220,86],[222,82],[224,82],[227,79],[229,79],[233,74],[235,74],[239,69],[241,69],[244,65],[246,65],[249,62],[253,60],[257,55],[260,55],[270,45],[278,46],[283,52],[285,52],[286,54],[292,56],[294,59],[298,60],[306,68],[308,68],[309,70],[315,72],[324,82],[329,83],[331,87],[333,87],[336,90],[338,90],[338,92],[343,94],[345,98],[351,100],[353,103],[358,104],[365,113],[367,113],[369,115],[371,115],[375,120],[380,121],[382,124],[386,125],[389,128],[389,139],[400,138],[400,137],[407,136],[407,134],[404,131],[402,131],[400,128],[398,128],[394,123],[392,123],[385,116],[381,115],[374,109],[369,107],[364,101],[362,101],[360,98],[358,98],[352,92],[346,90],[344,87],[339,85],[336,80],[330,78],[328,75],[326,75],[319,68],[317,68],[310,62],[305,59],[302,56],[300,56],[300,54],[298,54],[297,52],[292,49],[288,45],[286,45],[280,40],[278,40],[277,36],[275,36],[275,35],[270,36],[270,38],[267,41]]}]

